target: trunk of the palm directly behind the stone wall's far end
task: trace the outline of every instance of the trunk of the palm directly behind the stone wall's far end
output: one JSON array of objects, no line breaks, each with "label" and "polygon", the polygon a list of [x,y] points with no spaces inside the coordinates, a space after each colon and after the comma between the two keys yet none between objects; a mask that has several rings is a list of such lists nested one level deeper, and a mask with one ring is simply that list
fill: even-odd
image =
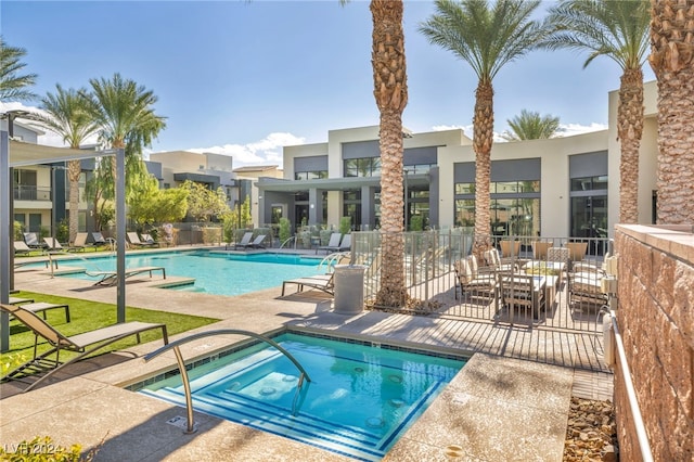
[{"label": "trunk of the palm directly behind the stone wall's far end", "polygon": [[625,69],[619,86],[617,136],[619,162],[619,222],[639,222],[639,150],[643,134],[643,72]]}]

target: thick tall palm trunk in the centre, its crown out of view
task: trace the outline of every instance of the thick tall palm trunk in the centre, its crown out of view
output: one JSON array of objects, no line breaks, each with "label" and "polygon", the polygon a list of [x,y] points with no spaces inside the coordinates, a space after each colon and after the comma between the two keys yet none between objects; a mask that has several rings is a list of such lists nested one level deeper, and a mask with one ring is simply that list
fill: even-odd
[{"label": "thick tall palm trunk in the centre, its crown out of view", "polygon": [[408,85],[401,0],[372,0],[374,97],[380,112],[381,235],[383,266],[376,305],[403,307],[404,288],[402,112]]}]

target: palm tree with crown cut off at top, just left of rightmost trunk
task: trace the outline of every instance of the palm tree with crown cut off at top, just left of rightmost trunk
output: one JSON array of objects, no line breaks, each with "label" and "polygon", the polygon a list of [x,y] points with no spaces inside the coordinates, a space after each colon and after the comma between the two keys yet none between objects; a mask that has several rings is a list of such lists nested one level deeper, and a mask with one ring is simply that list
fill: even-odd
[{"label": "palm tree with crown cut off at top, just left of rightmost trunk", "polygon": [[589,52],[583,67],[597,56],[614,60],[622,69],[617,107],[619,163],[619,221],[639,222],[639,147],[643,133],[643,70],[648,49],[648,0],[562,0],[550,9],[557,30],[545,42],[550,49]]}]

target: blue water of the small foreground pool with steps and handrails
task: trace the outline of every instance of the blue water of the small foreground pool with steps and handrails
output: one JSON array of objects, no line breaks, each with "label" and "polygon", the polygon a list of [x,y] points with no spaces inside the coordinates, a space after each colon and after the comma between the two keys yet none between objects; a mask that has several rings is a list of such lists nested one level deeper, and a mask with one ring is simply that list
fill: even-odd
[{"label": "blue water of the small foreground pool with steps and handrails", "polygon": [[[258,344],[189,371],[195,411],[364,461],[383,458],[465,364],[462,358],[296,333],[273,339],[311,382],[297,387],[294,363]],[[180,375],[139,393],[185,406]]]}]

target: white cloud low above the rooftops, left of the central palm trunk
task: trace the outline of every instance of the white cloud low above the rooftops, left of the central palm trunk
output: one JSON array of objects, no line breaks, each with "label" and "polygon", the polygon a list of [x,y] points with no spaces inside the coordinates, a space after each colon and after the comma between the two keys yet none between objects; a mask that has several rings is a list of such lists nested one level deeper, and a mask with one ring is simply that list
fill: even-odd
[{"label": "white cloud low above the rooftops, left of the central palm trunk", "polygon": [[230,155],[234,167],[247,165],[279,165],[282,167],[282,147],[303,144],[305,138],[292,133],[274,132],[259,141],[246,144],[223,144],[221,146],[193,147],[185,151]]}]

